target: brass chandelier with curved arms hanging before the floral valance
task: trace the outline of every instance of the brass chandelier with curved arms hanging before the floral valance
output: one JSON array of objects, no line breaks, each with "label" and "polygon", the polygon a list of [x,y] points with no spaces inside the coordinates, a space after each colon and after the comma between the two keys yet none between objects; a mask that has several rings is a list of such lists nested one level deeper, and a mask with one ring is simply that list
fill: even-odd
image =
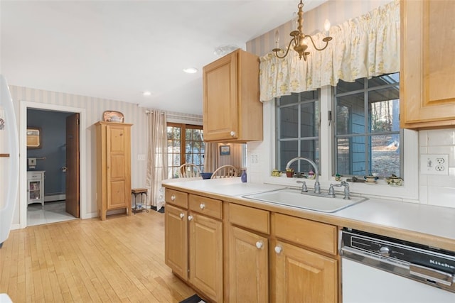
[{"label": "brass chandelier with curved arms hanging before the floral valance", "polygon": [[[303,26],[304,11],[302,9],[304,7],[304,4],[303,4],[302,0],[300,0],[300,3],[297,7],[299,8],[299,12],[297,13],[299,18],[297,19],[297,22],[296,22],[297,29],[295,31],[291,31],[291,33],[289,33],[289,35],[291,35],[291,37],[293,37],[293,38],[289,41],[289,45],[287,45],[286,53],[284,53],[284,55],[282,55],[282,56],[278,55],[279,52],[283,51],[281,48],[278,47],[278,42],[279,42],[278,31],[275,32],[275,43],[277,44],[277,48],[274,48],[272,51],[275,53],[275,55],[277,55],[277,57],[282,59],[287,56],[287,53],[289,53],[289,48],[292,45],[292,48],[294,48],[294,50],[297,53],[299,53],[299,59],[301,59],[301,57],[304,57],[304,60],[306,61],[306,56],[310,54],[310,52],[306,51],[306,48],[308,48],[308,45],[306,44],[306,41],[305,41],[306,38],[308,38],[311,41],[311,43],[313,43],[313,46],[316,50],[325,50],[327,48],[328,41],[332,40],[332,37],[327,36],[327,37],[323,38],[322,40],[323,40],[323,42],[326,43],[326,45],[324,45],[323,48],[318,48],[316,46],[316,44],[314,43],[313,38],[311,38],[311,35],[305,35],[303,32],[303,30],[304,30],[304,26]],[[293,20],[293,22],[294,22],[294,20]],[[328,32],[329,28],[330,28],[330,22],[328,22],[328,20],[326,20],[326,22],[324,22],[324,29],[326,30],[326,32]]]}]

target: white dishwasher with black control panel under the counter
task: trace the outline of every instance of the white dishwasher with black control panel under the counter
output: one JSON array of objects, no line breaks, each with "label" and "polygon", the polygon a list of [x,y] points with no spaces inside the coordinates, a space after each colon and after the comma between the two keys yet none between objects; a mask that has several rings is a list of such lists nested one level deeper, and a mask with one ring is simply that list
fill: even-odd
[{"label": "white dishwasher with black control panel under the counter", "polygon": [[455,253],[344,228],[343,303],[454,303]]}]

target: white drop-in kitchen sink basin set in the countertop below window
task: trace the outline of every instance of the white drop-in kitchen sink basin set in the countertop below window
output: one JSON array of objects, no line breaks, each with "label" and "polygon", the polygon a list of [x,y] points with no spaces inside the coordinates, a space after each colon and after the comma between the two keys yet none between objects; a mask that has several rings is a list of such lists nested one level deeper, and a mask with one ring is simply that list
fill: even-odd
[{"label": "white drop-in kitchen sink basin set in the countertop below window", "polygon": [[335,198],[323,195],[314,196],[311,194],[301,194],[300,189],[290,188],[277,189],[271,192],[261,192],[258,194],[247,194],[243,197],[261,202],[327,213],[339,211],[340,209],[345,209],[348,206],[368,200],[368,198],[364,197],[351,197],[349,200],[345,200],[343,199],[343,194],[340,194],[340,197]]}]

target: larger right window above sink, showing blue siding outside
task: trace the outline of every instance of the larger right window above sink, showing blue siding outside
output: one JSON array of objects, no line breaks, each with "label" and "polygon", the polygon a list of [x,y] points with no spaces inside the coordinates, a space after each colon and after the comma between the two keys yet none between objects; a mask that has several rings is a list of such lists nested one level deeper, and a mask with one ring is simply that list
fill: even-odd
[{"label": "larger right window above sink, showing blue siding outside", "polygon": [[402,175],[400,74],[340,81],[334,102],[334,174]]}]

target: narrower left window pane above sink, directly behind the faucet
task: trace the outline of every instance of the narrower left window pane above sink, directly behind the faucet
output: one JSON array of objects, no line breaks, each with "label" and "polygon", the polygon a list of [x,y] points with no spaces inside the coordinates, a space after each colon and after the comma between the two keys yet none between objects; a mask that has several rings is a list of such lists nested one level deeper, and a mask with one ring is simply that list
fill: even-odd
[{"label": "narrower left window pane above sink, directly behind the faucet", "polygon": [[[319,90],[277,99],[277,169],[284,171],[292,158],[301,156],[319,163]],[[296,161],[296,172],[308,173],[311,165]]]}]

